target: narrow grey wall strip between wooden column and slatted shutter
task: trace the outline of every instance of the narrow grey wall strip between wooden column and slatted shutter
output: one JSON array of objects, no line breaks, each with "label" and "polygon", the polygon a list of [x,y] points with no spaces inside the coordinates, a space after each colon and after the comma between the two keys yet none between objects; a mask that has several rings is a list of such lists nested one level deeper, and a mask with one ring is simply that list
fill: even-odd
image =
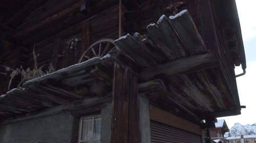
[{"label": "narrow grey wall strip between wooden column and slatted shutter", "polygon": [[150,104],[148,99],[139,95],[140,103],[140,142],[148,143],[151,142],[150,134]]}]

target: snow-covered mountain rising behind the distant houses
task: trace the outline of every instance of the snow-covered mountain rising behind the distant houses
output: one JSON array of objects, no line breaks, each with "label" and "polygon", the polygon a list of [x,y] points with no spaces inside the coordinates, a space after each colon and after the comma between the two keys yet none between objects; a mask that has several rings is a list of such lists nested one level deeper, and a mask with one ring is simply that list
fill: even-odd
[{"label": "snow-covered mountain rising behind the distant houses", "polygon": [[229,129],[229,132],[224,134],[224,137],[250,134],[256,134],[256,123],[252,125],[246,124],[244,126],[240,123],[236,123],[231,129]]}]

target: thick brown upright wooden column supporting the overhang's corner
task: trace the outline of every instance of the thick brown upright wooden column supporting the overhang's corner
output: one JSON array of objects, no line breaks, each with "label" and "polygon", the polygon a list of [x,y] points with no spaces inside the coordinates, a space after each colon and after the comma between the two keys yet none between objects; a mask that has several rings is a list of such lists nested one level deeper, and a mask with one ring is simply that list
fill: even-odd
[{"label": "thick brown upright wooden column supporting the overhang's corner", "polygon": [[112,143],[139,142],[138,78],[129,68],[114,66]]}]

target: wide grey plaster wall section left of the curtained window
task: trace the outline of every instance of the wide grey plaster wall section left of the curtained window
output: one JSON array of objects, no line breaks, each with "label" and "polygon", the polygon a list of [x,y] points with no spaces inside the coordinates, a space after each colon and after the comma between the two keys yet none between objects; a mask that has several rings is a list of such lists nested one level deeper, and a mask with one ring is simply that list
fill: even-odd
[{"label": "wide grey plaster wall section left of the curtained window", "polygon": [[68,112],[0,125],[1,143],[70,143],[73,117]]}]

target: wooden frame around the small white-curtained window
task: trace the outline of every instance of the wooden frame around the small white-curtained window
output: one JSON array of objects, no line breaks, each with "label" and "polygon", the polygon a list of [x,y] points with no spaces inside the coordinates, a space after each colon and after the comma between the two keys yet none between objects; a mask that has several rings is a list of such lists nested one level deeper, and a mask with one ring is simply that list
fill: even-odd
[{"label": "wooden frame around the small white-curtained window", "polygon": [[[78,131],[78,143],[82,143],[82,142],[90,142],[90,141],[99,141],[100,142],[100,139],[92,139],[92,140],[81,140],[81,133],[82,133],[82,120],[83,119],[93,119],[93,129],[94,129],[94,119],[95,118],[100,118],[100,121],[101,121],[101,115],[98,114],[98,115],[90,115],[90,116],[82,116],[80,117],[79,119],[79,131]],[[101,127],[101,125],[100,125]],[[100,134],[101,134],[101,131],[100,131]]]}]

